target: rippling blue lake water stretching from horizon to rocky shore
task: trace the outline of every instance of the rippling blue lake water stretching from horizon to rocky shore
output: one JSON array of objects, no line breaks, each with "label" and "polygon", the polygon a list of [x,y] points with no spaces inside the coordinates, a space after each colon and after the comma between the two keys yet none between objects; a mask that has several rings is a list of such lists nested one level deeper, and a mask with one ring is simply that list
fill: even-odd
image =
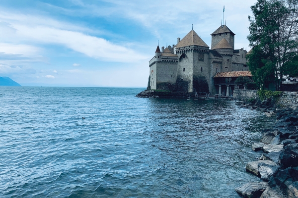
[{"label": "rippling blue lake water stretching from horizon to rocky shore", "polygon": [[0,197],[239,198],[260,181],[245,164],[269,118],[143,90],[0,87]]}]

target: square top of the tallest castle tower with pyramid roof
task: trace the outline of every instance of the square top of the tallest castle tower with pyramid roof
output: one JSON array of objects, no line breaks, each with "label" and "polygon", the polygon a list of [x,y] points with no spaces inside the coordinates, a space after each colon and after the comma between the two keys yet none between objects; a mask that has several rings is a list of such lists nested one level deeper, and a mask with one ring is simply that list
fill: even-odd
[{"label": "square top of the tallest castle tower with pyramid roof", "polygon": [[235,34],[226,26],[221,25],[214,33],[211,34],[211,49],[213,49],[222,39],[225,39],[234,49]]}]

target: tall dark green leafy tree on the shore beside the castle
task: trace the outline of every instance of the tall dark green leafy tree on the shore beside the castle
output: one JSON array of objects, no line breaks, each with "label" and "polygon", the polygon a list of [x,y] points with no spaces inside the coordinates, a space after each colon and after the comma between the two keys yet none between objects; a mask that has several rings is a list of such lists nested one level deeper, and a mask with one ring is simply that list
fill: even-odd
[{"label": "tall dark green leafy tree on the shore beside the castle", "polygon": [[259,87],[280,90],[284,77],[298,74],[298,0],[258,0],[251,11],[249,69]]}]

